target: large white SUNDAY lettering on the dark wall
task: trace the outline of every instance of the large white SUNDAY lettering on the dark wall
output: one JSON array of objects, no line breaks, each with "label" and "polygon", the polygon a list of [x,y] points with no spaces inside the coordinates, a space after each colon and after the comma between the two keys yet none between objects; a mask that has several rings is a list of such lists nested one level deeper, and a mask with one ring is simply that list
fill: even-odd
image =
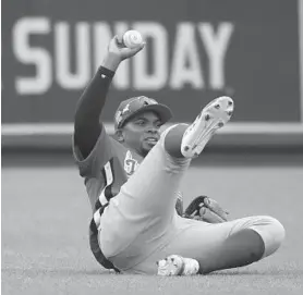
[{"label": "large white SUNDAY lettering on the dark wall", "polygon": [[[63,89],[83,89],[102,64],[114,35],[137,29],[147,44],[143,51],[121,62],[112,87],[119,90],[223,89],[226,61],[234,30],[229,22],[183,22],[175,30],[159,22],[56,22],[47,17],[23,17],[13,27],[13,52],[25,70],[35,73],[15,77],[20,95],[40,95],[54,82]],[[32,37],[53,40],[53,45],[31,44]],[[202,56],[204,54],[204,56]],[[202,59],[203,57],[203,59]],[[52,64],[54,65],[52,67]],[[27,73],[27,74],[26,74]]]}]

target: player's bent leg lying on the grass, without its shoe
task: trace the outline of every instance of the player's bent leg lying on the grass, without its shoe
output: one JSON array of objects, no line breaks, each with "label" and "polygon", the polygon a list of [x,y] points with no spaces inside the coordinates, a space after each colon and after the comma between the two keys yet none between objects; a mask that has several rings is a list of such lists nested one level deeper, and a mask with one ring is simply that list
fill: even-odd
[{"label": "player's bent leg lying on the grass, without its shoe", "polygon": [[153,261],[172,254],[198,260],[202,273],[243,267],[274,254],[284,238],[281,223],[266,216],[218,224],[179,218],[178,228],[175,239],[132,271],[153,272]]}]

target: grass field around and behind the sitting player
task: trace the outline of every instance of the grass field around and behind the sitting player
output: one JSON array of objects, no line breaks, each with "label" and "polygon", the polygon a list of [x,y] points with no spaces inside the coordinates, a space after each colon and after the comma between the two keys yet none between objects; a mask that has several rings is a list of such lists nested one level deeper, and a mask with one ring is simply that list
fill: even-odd
[{"label": "grass field around and behind the sitting player", "polygon": [[2,160],[2,294],[303,294],[302,155],[205,156],[189,171],[185,204],[207,194],[232,219],[269,214],[287,231],[272,257],[195,278],[100,269],[88,249],[90,211],[75,167],[31,157]]}]

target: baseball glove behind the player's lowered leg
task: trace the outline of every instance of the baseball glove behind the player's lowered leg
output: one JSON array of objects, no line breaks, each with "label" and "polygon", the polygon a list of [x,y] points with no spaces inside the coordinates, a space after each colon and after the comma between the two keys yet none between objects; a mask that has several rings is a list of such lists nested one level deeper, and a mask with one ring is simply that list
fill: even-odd
[{"label": "baseball glove behind the player's lowered leg", "polygon": [[227,221],[228,212],[214,199],[206,196],[196,197],[186,208],[183,217],[209,223]]}]

